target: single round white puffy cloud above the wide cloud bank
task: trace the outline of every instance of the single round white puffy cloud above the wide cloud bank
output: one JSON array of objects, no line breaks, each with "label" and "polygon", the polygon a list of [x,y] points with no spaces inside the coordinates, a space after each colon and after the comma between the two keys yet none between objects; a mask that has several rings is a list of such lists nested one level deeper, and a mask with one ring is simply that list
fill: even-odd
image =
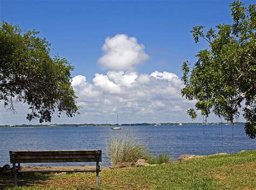
[{"label": "single round white puffy cloud above the wide cloud bank", "polygon": [[134,70],[134,66],[149,59],[144,50],[145,46],[138,44],[135,37],[117,34],[105,39],[102,46],[103,56],[98,59],[98,63],[103,69],[131,71]]}]

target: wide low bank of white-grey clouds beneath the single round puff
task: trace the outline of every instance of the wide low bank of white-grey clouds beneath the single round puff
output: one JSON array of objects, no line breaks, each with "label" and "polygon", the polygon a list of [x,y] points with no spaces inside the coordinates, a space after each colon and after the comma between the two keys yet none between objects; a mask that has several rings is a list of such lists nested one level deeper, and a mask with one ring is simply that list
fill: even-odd
[{"label": "wide low bank of white-grey clouds beneath the single round puff", "polygon": [[183,83],[171,72],[109,71],[96,73],[92,81],[89,84],[84,76],[72,80],[76,94],[96,94],[78,96],[78,103],[86,104],[80,112],[86,112],[87,117],[110,117],[118,113],[125,117],[123,123],[143,122],[143,118],[146,122],[171,122],[186,116],[187,108],[192,106],[181,97]]}]

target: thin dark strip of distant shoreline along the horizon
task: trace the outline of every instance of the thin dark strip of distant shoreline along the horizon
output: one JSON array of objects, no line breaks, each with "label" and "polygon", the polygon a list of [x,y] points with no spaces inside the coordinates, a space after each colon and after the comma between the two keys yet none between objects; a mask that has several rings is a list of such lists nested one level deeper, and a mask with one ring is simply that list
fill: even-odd
[{"label": "thin dark strip of distant shoreline along the horizon", "polygon": [[[244,125],[245,123],[234,123],[234,125]],[[54,125],[0,125],[0,128],[33,128],[33,127],[111,127],[117,126],[118,124],[54,124]],[[182,125],[221,125],[221,123],[137,123],[137,124],[119,124],[118,126],[182,126]],[[232,125],[231,123],[223,123],[223,125]]]}]

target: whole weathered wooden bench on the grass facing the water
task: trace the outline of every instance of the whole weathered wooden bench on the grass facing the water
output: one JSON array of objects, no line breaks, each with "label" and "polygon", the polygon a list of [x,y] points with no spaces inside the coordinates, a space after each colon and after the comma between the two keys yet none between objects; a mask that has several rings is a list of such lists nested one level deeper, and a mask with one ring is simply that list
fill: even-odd
[{"label": "whole weathered wooden bench on the grass facing the water", "polygon": [[[96,172],[96,185],[99,184],[99,162],[102,161],[101,150],[70,151],[10,151],[10,161],[14,173],[14,185],[17,185],[17,173],[28,172]],[[96,166],[23,166],[21,163],[43,162],[96,162]],[[18,167],[16,169],[16,164]]]}]

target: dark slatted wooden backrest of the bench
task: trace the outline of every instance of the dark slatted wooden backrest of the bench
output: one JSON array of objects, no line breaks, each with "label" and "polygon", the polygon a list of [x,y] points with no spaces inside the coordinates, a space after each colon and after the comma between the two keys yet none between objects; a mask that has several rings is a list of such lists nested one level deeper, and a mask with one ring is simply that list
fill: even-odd
[{"label": "dark slatted wooden backrest of the bench", "polygon": [[100,162],[101,150],[10,151],[11,163]]}]

